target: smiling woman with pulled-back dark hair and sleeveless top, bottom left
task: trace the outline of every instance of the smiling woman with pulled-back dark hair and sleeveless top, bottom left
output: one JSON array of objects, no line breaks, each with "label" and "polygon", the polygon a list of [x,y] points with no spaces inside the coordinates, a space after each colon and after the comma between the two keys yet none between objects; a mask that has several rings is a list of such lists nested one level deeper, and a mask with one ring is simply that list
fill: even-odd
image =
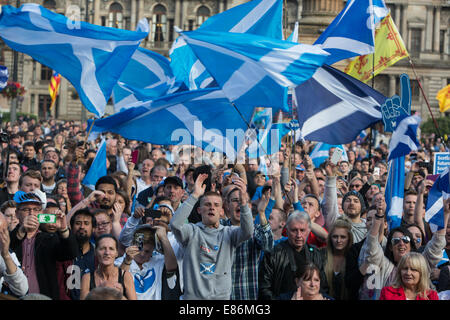
[{"label": "smiling woman with pulled-back dark hair and sleeveless top, bottom left", "polygon": [[95,243],[97,269],[83,275],[80,300],[84,300],[96,287],[114,288],[124,295],[124,299],[137,299],[133,276],[114,265],[118,256],[118,241],[113,235],[104,234],[97,238]]}]

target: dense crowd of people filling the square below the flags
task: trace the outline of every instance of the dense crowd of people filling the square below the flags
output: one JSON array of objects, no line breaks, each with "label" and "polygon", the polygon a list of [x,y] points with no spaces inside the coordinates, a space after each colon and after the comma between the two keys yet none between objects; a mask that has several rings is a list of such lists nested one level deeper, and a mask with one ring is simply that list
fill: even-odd
[{"label": "dense crowd of people filling the square below the flags", "polygon": [[[219,163],[193,146],[107,133],[107,174],[83,183],[99,139],[85,124],[20,118],[0,134],[2,297],[52,300],[438,300],[450,290],[444,229],[425,221],[435,136],[406,157],[390,229],[389,138],[315,143]],[[269,170],[263,170],[268,167]]]}]

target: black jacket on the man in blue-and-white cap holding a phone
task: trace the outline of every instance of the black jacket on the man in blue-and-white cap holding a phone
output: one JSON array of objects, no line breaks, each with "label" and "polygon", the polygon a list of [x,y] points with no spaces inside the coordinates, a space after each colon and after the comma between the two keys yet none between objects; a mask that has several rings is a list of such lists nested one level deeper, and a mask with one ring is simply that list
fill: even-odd
[{"label": "black jacket on the man in blue-and-white cap holding a phone", "polygon": [[[11,232],[10,248],[15,252],[22,264],[22,242],[17,239],[18,225]],[[69,237],[63,239],[59,233],[38,232],[34,244],[36,275],[40,293],[53,300],[59,299],[59,285],[56,277],[56,261],[74,259],[78,254],[78,243],[70,231]]]}]

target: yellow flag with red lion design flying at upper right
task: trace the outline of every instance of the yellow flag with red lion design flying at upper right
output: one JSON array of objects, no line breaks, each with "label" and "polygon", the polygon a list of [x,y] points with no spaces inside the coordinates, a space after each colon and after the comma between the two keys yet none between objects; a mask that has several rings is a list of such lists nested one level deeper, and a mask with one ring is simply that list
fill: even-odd
[{"label": "yellow flag with red lion design flying at upper right", "polygon": [[368,54],[355,58],[347,65],[345,73],[362,82],[367,82],[372,78],[372,72],[376,76],[387,67],[408,56],[403,39],[390,14],[380,22],[379,28],[375,30],[374,68],[372,68],[373,55]]}]

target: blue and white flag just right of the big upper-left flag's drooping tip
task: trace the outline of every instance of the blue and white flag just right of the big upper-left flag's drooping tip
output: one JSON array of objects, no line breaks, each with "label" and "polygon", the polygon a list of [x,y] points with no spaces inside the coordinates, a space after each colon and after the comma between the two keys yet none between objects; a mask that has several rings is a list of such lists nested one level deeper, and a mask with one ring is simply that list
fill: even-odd
[{"label": "blue and white flag just right of the big upper-left flag's drooping tip", "polygon": [[145,48],[138,48],[114,87],[114,111],[140,105],[176,92],[181,87],[182,83],[175,80],[169,59]]}]

